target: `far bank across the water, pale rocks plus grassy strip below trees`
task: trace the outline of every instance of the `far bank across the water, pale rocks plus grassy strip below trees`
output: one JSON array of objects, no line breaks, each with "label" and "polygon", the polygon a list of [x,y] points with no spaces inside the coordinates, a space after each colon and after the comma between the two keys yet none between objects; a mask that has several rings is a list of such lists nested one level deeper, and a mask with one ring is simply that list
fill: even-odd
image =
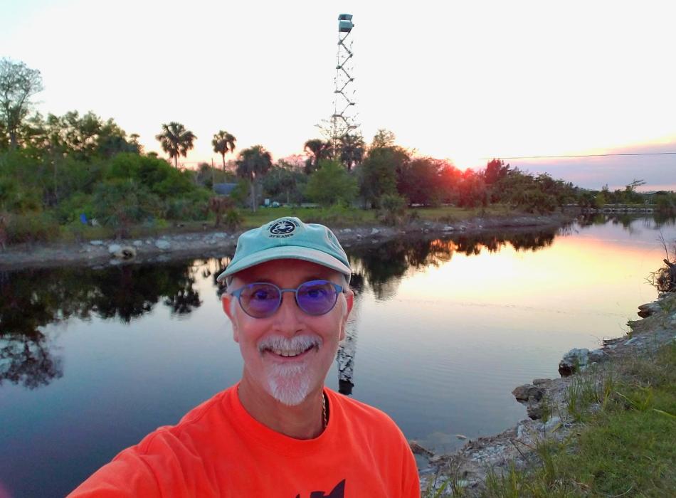
[{"label": "far bank across the water, pale rocks plus grassy strip below trees", "polygon": [[[347,211],[347,215],[345,214]],[[534,215],[505,206],[463,209],[453,207],[415,208],[412,221],[396,227],[384,225],[373,212],[359,209],[268,208],[247,215],[241,228],[222,231],[213,226],[186,223],[167,231],[148,231],[139,227],[129,238],[115,238],[112,231],[88,227],[79,238],[64,237],[53,243],[12,245],[0,253],[0,270],[60,265],[102,265],[159,263],[176,258],[224,257],[233,253],[237,237],[248,228],[260,226],[280,216],[299,216],[306,222],[324,223],[343,245],[384,242],[401,235],[433,236],[477,231],[559,228],[570,223],[569,213]]]}]

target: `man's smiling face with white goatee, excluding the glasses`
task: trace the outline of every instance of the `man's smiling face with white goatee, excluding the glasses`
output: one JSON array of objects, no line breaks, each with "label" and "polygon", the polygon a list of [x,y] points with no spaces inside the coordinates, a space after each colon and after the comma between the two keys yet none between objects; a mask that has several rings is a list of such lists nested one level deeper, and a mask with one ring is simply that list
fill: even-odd
[{"label": "man's smiling face with white goatee, excluding the glasses", "polygon": [[292,292],[285,292],[279,309],[268,318],[250,317],[236,298],[223,297],[223,310],[244,359],[243,382],[290,406],[324,385],[345,336],[354,295],[338,272],[302,260],[274,260],[248,268],[238,272],[230,286],[237,290],[253,282],[271,282],[289,289],[309,280],[330,280],[347,293],[338,296],[327,314],[312,316],[297,306]]}]

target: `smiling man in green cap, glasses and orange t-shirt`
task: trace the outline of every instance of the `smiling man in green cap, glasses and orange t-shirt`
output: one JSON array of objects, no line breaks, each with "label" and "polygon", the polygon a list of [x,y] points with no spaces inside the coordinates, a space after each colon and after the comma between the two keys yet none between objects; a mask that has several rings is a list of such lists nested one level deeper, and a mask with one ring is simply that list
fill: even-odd
[{"label": "smiling man in green cap, glasses and orange t-shirt", "polygon": [[245,232],[223,310],[241,381],[122,451],[73,497],[419,497],[406,439],[324,387],[354,295],[326,227],[280,218]]}]

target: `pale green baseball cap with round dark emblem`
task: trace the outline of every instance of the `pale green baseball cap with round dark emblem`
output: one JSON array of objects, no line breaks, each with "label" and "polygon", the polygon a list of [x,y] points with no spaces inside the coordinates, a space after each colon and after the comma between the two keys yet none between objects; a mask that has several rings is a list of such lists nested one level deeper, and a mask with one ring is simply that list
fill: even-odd
[{"label": "pale green baseball cap with round dark emblem", "polygon": [[245,268],[282,259],[305,260],[329,267],[345,275],[348,282],[352,275],[347,255],[329,228],[285,216],[240,235],[233,259],[216,280],[221,282]]}]

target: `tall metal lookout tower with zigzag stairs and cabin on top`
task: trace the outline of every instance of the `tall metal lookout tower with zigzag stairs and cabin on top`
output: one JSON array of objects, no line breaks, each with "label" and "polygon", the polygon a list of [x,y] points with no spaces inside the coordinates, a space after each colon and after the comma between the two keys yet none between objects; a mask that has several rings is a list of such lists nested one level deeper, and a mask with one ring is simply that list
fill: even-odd
[{"label": "tall metal lookout tower with zigzag stairs and cabin on top", "polygon": [[333,92],[333,115],[331,116],[330,137],[334,154],[339,151],[344,137],[353,134],[359,127],[355,122],[357,117],[354,111],[354,78],[352,72],[352,40],[347,41],[354,28],[352,14],[338,16],[338,55],[336,64],[335,90]]}]

